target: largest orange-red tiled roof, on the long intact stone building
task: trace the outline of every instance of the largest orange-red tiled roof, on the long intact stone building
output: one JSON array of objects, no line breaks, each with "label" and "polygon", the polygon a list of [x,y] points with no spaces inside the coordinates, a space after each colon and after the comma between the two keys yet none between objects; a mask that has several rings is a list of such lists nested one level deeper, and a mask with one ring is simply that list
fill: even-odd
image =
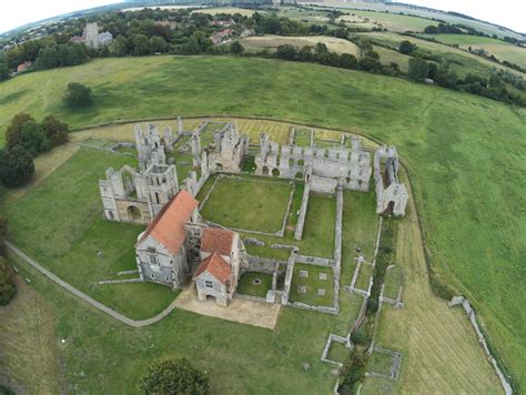
[{"label": "largest orange-red tiled roof, on the long intact stone building", "polygon": [[155,216],[141,237],[152,236],[175,254],[186,237],[184,223],[198,207],[198,201],[185,190],[181,190]]}]

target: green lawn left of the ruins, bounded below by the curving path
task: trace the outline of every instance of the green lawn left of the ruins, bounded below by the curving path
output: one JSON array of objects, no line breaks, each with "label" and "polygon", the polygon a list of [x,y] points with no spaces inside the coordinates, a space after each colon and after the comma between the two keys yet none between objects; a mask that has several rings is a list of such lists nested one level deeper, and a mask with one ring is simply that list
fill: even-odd
[{"label": "green lawn left of the ruins, bounded below by the curving path", "polygon": [[112,308],[146,318],[175,294],[156,284],[98,284],[136,269],[133,245],[144,226],[103,220],[97,186],[108,166],[133,163],[128,156],[81,149],[30,192],[8,199],[0,213],[10,223],[9,240],[28,255]]}]

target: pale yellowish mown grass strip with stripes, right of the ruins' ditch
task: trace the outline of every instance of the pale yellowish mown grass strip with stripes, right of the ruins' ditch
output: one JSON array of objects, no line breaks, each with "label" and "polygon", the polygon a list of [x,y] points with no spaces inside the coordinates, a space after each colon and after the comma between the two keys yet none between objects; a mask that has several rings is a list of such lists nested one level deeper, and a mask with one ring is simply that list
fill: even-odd
[{"label": "pale yellowish mown grass strip with stripes, right of the ruins' ditch", "polygon": [[[396,310],[384,303],[374,337],[378,345],[403,354],[399,382],[391,389],[415,394],[463,393],[461,388],[476,394],[502,393],[464,311],[448,307],[431,292],[424,251],[415,242],[421,234],[414,201],[409,201],[407,217],[398,226],[395,265],[406,273],[403,294],[406,305]],[[377,356],[382,361],[387,357]],[[385,364],[376,368],[382,366]],[[385,393],[382,388],[386,385],[382,379],[368,377],[364,393]]]}]

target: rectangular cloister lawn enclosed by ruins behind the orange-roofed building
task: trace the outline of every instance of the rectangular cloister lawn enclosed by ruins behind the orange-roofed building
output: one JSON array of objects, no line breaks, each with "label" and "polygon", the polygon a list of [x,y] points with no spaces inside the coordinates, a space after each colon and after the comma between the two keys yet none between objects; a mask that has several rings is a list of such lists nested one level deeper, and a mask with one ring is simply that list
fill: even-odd
[{"label": "rectangular cloister lawn enclosed by ruins behind the orange-roofed building", "polygon": [[274,233],[283,225],[290,193],[291,185],[281,180],[221,178],[201,214],[223,226]]}]

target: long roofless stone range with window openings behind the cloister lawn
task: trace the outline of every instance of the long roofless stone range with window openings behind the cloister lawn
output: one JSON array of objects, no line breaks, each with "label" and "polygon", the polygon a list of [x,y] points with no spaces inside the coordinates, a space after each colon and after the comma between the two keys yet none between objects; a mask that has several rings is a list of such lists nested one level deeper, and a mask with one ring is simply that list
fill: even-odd
[{"label": "long roofless stone range with window openings behind the cloister lawn", "polygon": [[370,153],[353,138],[353,148],[315,148],[281,145],[261,135],[261,152],[255,156],[257,175],[281,179],[304,179],[312,170],[311,190],[335,193],[340,185],[352,191],[366,192],[372,173]]}]

